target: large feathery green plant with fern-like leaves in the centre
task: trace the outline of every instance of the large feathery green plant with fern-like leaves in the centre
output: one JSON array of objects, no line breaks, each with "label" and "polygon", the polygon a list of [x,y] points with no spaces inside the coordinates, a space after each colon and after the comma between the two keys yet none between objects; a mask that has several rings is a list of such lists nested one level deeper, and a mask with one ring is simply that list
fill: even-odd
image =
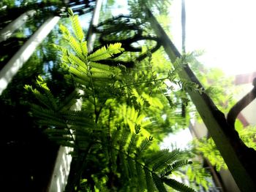
[{"label": "large feathery green plant with fern-like leaves in the centre", "polygon": [[[31,110],[40,125],[48,126],[45,133],[60,145],[73,148],[79,169],[71,171],[66,190],[167,191],[167,185],[179,191],[194,191],[170,177],[191,161],[184,159],[178,149],[152,147],[152,120],[148,116],[163,108],[154,92],[164,93],[166,98],[167,93],[162,90],[165,80],[184,90],[194,85],[176,80],[178,63],[165,78],[158,78],[149,65],[148,72],[136,71],[133,75],[137,77],[129,79],[131,74],[127,74],[124,66],[99,64],[98,61],[121,53],[121,44],[88,53],[78,18],[71,10],[69,14],[74,35],[65,26],[60,28],[71,49],[54,47],[61,51],[61,67],[68,72],[66,78],[75,83],[80,93],[74,91],[60,101],[40,76],[37,88],[25,86],[39,101],[31,104]],[[71,110],[78,99],[83,100],[81,110]]]}]

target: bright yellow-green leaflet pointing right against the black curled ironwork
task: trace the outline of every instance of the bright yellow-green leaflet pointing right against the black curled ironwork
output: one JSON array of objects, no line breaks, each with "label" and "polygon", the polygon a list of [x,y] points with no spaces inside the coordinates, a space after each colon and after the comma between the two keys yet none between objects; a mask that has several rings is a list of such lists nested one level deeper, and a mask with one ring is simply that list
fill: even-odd
[{"label": "bright yellow-green leaflet pointing right against the black curled ironwork", "polygon": [[99,50],[96,50],[94,53],[91,53],[87,58],[89,61],[104,60],[112,57],[113,54],[121,53],[123,50],[124,49],[121,48],[121,43],[110,44],[107,48],[104,46]]}]

